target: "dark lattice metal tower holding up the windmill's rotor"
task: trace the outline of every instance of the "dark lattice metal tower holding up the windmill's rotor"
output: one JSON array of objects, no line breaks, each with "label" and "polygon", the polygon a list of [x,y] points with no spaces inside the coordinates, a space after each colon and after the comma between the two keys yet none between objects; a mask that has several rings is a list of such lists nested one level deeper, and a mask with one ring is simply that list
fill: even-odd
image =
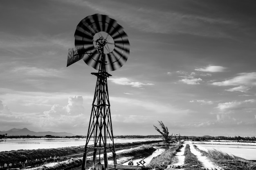
[{"label": "dark lattice metal tower holding up the windmill's rotor", "polygon": [[[106,69],[104,67],[105,64],[102,64],[103,62],[105,62],[103,56],[103,51],[101,51],[101,61],[99,61],[101,66],[99,72],[91,73],[97,76],[97,83],[94,92],[94,99],[92,102],[92,111],[85,144],[85,151],[83,154],[82,170],[85,170],[86,167],[88,143],[91,138],[93,138],[94,142],[92,162],[96,170],[100,170],[102,168],[101,153],[103,153],[104,168],[105,170],[108,170],[107,150],[110,150],[112,152],[114,164],[117,164],[107,83],[107,78],[112,75],[106,72]],[[111,144],[108,143],[110,141]]]}]

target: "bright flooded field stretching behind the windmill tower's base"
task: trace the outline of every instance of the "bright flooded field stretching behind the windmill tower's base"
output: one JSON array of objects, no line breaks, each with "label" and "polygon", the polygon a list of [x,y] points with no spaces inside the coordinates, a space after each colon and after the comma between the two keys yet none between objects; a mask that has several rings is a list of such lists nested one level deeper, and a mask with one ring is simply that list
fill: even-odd
[{"label": "bright flooded field stretching behind the windmill tower's base", "polygon": [[[151,140],[161,140],[160,138],[117,138],[114,143],[128,143],[128,142],[143,142]],[[2,139],[0,141],[0,152],[10,150],[28,150],[28,149],[50,149],[50,148],[64,148],[71,146],[84,146],[85,138],[17,138],[17,139]],[[93,141],[89,142],[89,145]]]}]

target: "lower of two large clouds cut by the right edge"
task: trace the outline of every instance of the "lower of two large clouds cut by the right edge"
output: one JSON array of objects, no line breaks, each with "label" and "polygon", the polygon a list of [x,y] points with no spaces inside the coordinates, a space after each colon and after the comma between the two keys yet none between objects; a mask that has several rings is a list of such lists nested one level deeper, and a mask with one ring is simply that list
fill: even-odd
[{"label": "lower of two large clouds cut by the right edge", "polygon": [[250,100],[244,100],[244,101],[232,101],[232,102],[225,102],[225,103],[219,103],[216,107],[219,109],[222,113],[227,113],[233,110],[241,110],[244,109],[247,105],[247,103],[254,103],[256,100],[250,99]]}]

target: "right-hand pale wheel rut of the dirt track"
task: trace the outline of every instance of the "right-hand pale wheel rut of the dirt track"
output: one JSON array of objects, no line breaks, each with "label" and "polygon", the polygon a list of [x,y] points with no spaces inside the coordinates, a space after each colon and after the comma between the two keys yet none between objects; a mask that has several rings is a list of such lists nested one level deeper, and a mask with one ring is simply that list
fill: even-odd
[{"label": "right-hand pale wheel rut of the dirt track", "polygon": [[198,150],[195,150],[195,148],[191,142],[188,144],[189,144],[191,153],[193,153],[198,158],[198,161],[200,161],[202,163],[202,166],[204,168],[209,169],[209,170],[212,170],[212,169],[213,170],[221,170],[220,167],[214,165],[207,157],[202,156],[202,154]]}]

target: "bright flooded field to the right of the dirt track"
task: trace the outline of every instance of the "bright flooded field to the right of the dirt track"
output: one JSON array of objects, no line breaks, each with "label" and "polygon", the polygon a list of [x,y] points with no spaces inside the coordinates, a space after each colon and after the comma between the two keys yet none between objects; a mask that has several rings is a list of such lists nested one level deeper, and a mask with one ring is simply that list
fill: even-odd
[{"label": "bright flooded field to the right of the dirt track", "polygon": [[248,160],[256,161],[256,143],[253,142],[193,142],[200,150],[219,150],[229,155],[234,155]]}]

